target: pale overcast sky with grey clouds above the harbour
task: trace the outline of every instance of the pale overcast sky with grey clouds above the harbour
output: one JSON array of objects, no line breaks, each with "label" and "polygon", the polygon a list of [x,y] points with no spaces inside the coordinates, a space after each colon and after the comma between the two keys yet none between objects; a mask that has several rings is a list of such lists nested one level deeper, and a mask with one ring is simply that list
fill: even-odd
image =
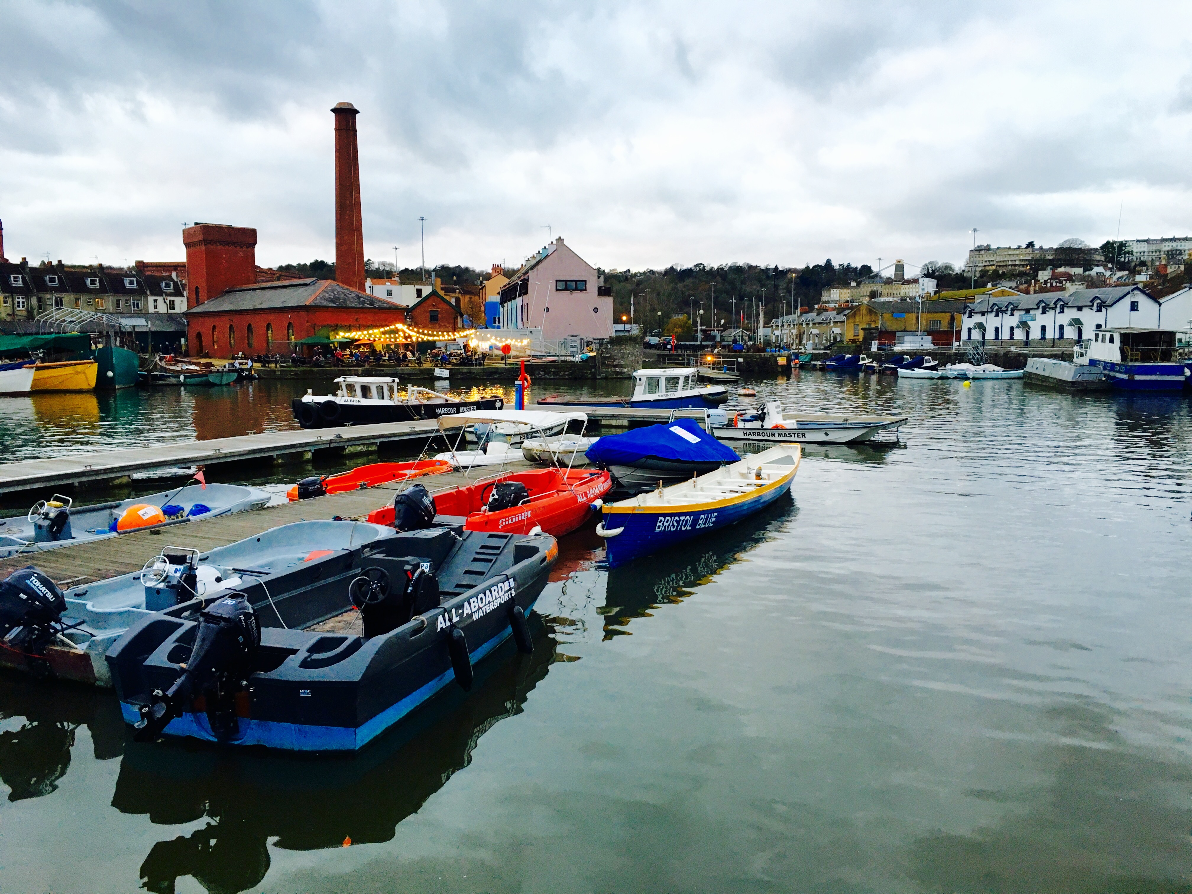
[{"label": "pale overcast sky with grey clouds above the harbour", "polygon": [[958,262],[1192,232],[1188,2],[0,0],[10,259]]}]

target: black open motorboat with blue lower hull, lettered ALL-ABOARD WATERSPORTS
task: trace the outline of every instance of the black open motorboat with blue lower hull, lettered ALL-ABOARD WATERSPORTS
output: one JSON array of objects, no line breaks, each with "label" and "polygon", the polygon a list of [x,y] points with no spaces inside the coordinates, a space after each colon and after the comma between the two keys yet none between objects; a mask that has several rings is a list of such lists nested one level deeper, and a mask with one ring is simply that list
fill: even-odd
[{"label": "black open motorboat with blue lower hull, lettered ALL-ABOARD WATERSPORTS", "polygon": [[120,710],[141,741],[358,751],[453,681],[470,690],[473,664],[510,637],[533,651],[526,615],[558,553],[546,534],[429,528],[350,569],[336,557],[334,582],[284,604],[257,598],[263,581],[194,598],[108,651]]}]

